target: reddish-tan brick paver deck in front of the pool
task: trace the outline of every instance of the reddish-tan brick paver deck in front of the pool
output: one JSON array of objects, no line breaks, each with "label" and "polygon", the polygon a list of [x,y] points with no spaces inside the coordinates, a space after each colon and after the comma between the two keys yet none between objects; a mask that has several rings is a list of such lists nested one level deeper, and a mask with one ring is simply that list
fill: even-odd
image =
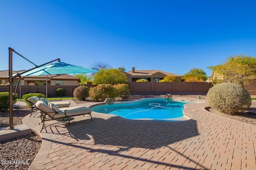
[{"label": "reddish-tan brick paver deck in front of the pool", "polygon": [[42,137],[30,169],[256,169],[256,126],[188,104],[182,122],[128,120],[92,113],[40,131],[38,115],[23,121]]}]

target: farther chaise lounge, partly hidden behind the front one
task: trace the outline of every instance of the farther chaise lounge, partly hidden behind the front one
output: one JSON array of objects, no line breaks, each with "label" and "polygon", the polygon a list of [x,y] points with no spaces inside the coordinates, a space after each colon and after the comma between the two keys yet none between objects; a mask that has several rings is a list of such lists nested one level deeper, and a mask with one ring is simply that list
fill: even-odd
[{"label": "farther chaise lounge, partly hidden behind the front one", "polygon": [[28,103],[30,104],[30,107],[31,107],[31,114],[30,114],[30,116],[32,115],[32,113],[33,113],[33,109],[35,108],[34,107],[34,105],[36,104],[36,102],[38,102],[38,101],[40,101],[40,100],[42,100],[42,101],[44,101],[46,104],[48,104],[48,103],[52,103],[52,104],[55,104],[56,106],[58,106],[58,107],[69,107],[70,106],[70,102],[68,102],[68,101],[61,101],[61,102],[48,102],[46,99],[44,99],[44,98],[38,98],[37,96],[34,96],[34,97],[30,97],[30,98],[28,98]]}]

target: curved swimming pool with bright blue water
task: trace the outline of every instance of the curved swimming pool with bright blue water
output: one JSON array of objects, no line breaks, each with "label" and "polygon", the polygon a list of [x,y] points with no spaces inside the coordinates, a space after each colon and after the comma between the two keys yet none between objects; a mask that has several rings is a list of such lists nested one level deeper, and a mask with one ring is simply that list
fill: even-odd
[{"label": "curved swimming pool with bright blue water", "polygon": [[183,121],[190,118],[183,115],[184,104],[193,103],[164,98],[148,98],[133,102],[115,102],[112,105],[92,106],[92,111],[118,115],[126,119]]}]

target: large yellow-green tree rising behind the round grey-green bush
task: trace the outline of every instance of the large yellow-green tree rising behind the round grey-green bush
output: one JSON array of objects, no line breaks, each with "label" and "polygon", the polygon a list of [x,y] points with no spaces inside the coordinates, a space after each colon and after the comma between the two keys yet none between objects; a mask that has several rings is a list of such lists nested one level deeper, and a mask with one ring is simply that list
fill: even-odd
[{"label": "large yellow-green tree rising behind the round grey-green bush", "polygon": [[224,63],[208,67],[213,70],[212,84],[223,82],[244,86],[256,76],[256,58],[246,55],[229,57]]}]

